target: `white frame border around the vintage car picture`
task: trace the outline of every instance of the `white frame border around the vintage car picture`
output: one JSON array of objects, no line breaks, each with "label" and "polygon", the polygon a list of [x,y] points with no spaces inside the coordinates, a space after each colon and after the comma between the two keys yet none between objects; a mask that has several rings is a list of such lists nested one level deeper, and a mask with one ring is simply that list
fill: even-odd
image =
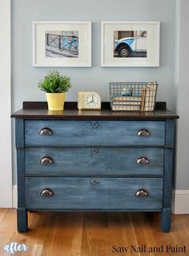
[{"label": "white frame border around the vintage car picture", "polygon": [[[145,59],[146,58],[116,58],[116,61],[117,63],[115,63],[113,60],[112,60],[112,63],[108,63],[106,64],[105,61],[104,61],[104,58],[105,58],[105,54],[104,54],[104,33],[106,32],[105,31],[105,28],[104,26],[105,25],[108,25],[108,24],[115,24],[115,25],[131,25],[131,26],[135,26],[136,24],[139,24],[139,25],[155,25],[156,26],[156,32],[155,32],[155,35],[156,35],[156,40],[155,40],[155,43],[156,43],[156,47],[155,47],[155,60],[153,62],[148,62],[148,63],[145,63]],[[160,37],[160,22],[159,21],[153,21],[153,22],[147,22],[147,21],[103,21],[101,22],[101,66],[102,67],[159,67],[159,37]],[[114,58],[112,58],[114,59]],[[124,59],[124,60],[123,60]],[[131,60],[132,59],[132,60]],[[143,60],[142,60],[143,59]],[[147,60],[147,59],[146,59]],[[142,63],[141,63],[142,61]],[[122,62],[122,63],[119,63],[119,62]],[[124,63],[123,63],[124,62]]]}]

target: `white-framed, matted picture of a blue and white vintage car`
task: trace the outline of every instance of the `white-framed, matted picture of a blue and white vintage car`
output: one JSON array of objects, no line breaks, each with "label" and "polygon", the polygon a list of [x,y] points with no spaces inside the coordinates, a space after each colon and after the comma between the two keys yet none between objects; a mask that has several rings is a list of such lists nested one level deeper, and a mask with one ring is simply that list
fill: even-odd
[{"label": "white-framed, matted picture of a blue and white vintage car", "polygon": [[102,22],[101,66],[159,67],[159,22]]}]

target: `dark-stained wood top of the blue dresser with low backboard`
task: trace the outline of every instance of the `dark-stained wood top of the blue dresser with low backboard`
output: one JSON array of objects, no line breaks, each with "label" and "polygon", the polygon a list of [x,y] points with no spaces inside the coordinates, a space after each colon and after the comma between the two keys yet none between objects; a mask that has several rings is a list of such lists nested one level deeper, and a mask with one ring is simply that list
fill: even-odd
[{"label": "dark-stained wood top of the blue dresser with low backboard", "polygon": [[155,111],[111,111],[110,102],[102,102],[101,110],[78,110],[77,102],[65,102],[63,111],[49,111],[46,102],[23,102],[23,108],[11,114],[11,118],[26,119],[79,119],[79,120],[165,120],[179,118],[166,109],[165,102],[157,102]]}]

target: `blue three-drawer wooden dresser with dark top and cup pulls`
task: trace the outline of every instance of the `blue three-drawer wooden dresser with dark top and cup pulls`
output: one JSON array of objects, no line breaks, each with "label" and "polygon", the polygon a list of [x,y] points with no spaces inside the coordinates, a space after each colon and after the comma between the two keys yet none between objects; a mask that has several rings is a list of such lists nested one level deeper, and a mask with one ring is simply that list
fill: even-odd
[{"label": "blue three-drawer wooden dresser with dark top and cup pulls", "polygon": [[[27,211],[159,212],[171,229],[176,114],[49,112],[26,103],[16,118],[18,232]],[[107,106],[107,105],[106,105]]]}]

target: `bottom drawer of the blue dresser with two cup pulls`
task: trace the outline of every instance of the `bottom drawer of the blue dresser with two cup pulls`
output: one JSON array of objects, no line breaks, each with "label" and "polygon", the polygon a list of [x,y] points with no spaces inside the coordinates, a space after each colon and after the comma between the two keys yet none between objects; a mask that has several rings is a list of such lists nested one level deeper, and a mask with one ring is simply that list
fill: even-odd
[{"label": "bottom drawer of the blue dresser with two cup pulls", "polygon": [[160,210],[162,178],[26,178],[27,209]]}]

